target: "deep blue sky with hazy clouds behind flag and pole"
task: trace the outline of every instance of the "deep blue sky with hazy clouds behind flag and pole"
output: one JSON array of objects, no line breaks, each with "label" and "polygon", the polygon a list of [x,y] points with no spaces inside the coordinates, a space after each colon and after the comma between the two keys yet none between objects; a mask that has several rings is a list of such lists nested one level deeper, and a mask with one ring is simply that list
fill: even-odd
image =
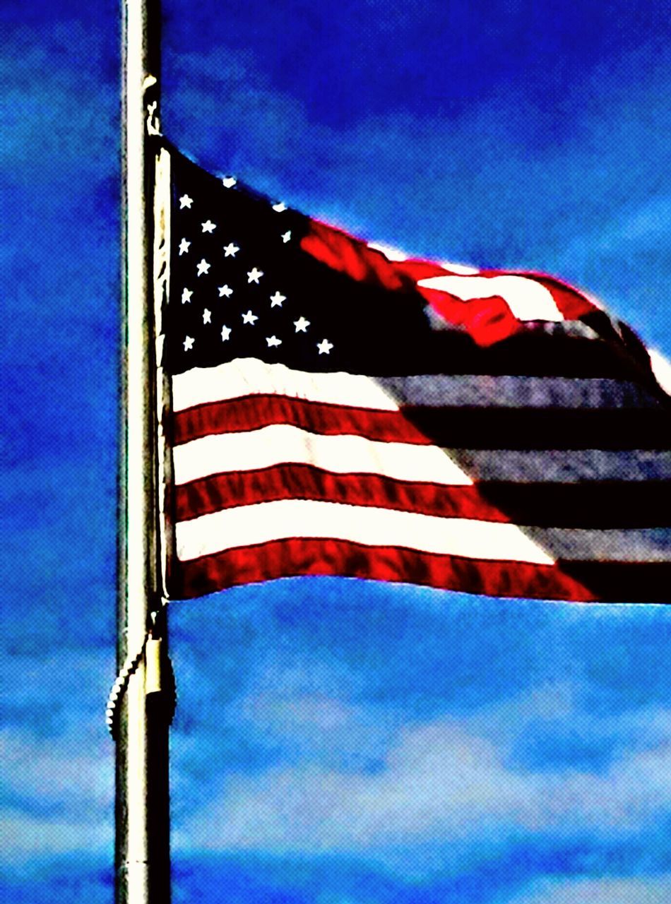
[{"label": "deep blue sky with hazy clouds behind flag and pole", "polygon": [[[165,133],[671,355],[667,5],[164,3]],[[118,17],[0,11],[0,899],[111,900]],[[175,604],[175,901],[661,904],[662,607],[297,579]]]}]

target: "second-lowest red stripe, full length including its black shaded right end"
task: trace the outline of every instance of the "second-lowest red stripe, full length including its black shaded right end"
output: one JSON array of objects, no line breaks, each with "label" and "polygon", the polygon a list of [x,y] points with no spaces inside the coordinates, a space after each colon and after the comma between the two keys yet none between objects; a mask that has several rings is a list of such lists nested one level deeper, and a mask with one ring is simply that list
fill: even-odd
[{"label": "second-lowest red stripe, full length including its black shaded right end", "polygon": [[537,527],[663,527],[671,511],[671,483],[490,481],[444,486],[374,475],[337,475],[309,465],[279,465],[175,487],[175,519],[187,521],[235,505],[295,498]]}]

